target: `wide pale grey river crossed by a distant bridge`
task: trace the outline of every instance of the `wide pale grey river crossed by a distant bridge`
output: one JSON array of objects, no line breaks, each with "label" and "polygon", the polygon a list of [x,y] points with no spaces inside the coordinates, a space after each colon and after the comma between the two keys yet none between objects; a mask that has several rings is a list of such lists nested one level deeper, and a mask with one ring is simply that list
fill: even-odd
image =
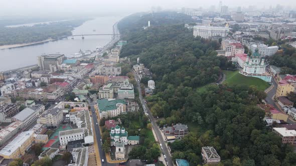
[{"label": "wide pale grey river crossed by a distant bridge", "polygon": [[[84,22],[76,27],[72,33],[75,34],[112,34],[112,26],[120,20],[119,16],[104,16]],[[95,29],[96,31],[93,31]],[[0,71],[20,68],[37,64],[37,56],[48,53],[63,53],[66,56],[81,50],[96,49],[97,46],[104,46],[111,40],[109,35],[98,36],[75,36],[74,39],[50,41],[38,45],[0,49]]]}]

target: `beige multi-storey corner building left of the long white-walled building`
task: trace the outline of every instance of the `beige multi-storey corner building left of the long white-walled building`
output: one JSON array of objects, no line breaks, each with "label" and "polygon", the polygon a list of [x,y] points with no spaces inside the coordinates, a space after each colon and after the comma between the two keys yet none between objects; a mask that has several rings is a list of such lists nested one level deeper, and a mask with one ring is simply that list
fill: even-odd
[{"label": "beige multi-storey corner building left of the long white-walled building", "polygon": [[63,121],[63,111],[59,108],[53,108],[49,110],[45,115],[47,126],[58,126]]}]

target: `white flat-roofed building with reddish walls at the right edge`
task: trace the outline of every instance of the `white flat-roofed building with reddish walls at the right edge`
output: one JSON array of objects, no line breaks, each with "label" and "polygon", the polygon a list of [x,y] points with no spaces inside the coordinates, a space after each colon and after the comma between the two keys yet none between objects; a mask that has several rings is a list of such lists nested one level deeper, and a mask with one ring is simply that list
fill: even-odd
[{"label": "white flat-roofed building with reddish walls at the right edge", "polygon": [[281,137],[281,143],[296,145],[296,131],[285,127],[273,127],[272,131]]}]

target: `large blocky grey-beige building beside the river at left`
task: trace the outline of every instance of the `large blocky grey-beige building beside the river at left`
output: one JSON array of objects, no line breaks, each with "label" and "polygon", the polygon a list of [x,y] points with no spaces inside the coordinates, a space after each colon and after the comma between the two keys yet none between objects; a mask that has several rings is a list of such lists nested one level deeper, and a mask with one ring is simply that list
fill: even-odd
[{"label": "large blocky grey-beige building beside the river at left", "polygon": [[37,56],[38,66],[41,70],[54,70],[63,63],[64,57],[64,54],[59,53]]}]

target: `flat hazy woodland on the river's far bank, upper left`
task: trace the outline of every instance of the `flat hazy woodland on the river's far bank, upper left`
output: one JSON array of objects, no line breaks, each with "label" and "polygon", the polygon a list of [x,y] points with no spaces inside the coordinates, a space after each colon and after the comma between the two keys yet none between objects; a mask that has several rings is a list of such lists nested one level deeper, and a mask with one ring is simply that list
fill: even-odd
[{"label": "flat hazy woodland on the river's far bank, upper left", "polygon": [[0,26],[0,45],[30,43],[68,36],[72,34],[71,31],[74,27],[81,25],[86,20],[76,19],[20,27]]}]

